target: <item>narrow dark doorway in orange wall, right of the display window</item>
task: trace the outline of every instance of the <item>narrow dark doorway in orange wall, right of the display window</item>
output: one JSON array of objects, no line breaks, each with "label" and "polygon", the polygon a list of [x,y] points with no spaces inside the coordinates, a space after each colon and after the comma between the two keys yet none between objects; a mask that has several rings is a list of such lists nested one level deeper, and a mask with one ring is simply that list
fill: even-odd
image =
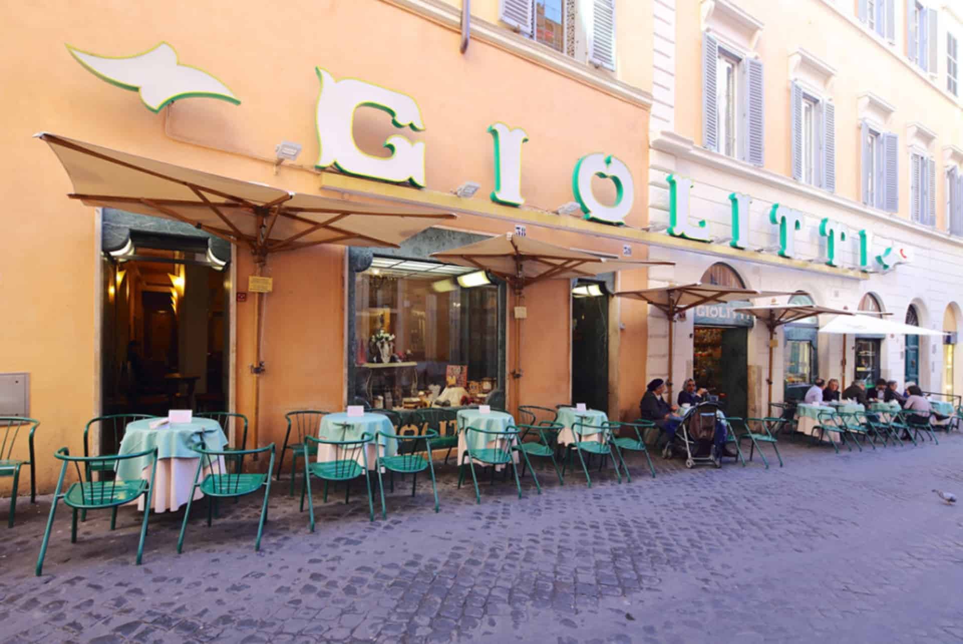
[{"label": "narrow dark doorway in orange wall, right of the display window", "polygon": [[572,403],[609,410],[609,296],[602,282],[572,290]]}]

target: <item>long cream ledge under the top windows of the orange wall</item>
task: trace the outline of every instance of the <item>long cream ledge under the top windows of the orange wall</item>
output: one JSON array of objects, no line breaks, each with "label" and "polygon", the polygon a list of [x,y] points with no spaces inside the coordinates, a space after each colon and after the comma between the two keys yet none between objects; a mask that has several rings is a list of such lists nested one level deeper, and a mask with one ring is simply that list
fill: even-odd
[{"label": "long cream ledge under the top windows of the orange wall", "polygon": [[[442,0],[381,1],[425,17],[453,31],[461,30],[461,11],[448,3],[442,2]],[[596,68],[592,64],[581,63],[546,45],[519,36],[508,27],[493,24],[473,15],[471,35],[472,39],[498,47],[518,58],[551,69],[562,76],[607,93],[614,98],[646,110],[652,108],[652,92],[623,83],[618,80],[615,72]]]}]

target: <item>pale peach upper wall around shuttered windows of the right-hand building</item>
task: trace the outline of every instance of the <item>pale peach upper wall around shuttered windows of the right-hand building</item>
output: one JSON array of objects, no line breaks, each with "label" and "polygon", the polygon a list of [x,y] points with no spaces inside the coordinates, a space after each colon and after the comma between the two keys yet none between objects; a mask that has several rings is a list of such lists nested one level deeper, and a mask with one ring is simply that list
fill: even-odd
[{"label": "pale peach upper wall around shuttered windows of the right-hand building", "polygon": [[[702,144],[702,33],[698,0],[679,3],[676,25],[676,131]],[[909,152],[907,125],[917,121],[932,130],[937,140],[929,154],[936,161],[937,228],[946,229],[946,182],[943,147],[963,146],[963,121],[953,100],[924,82],[918,67],[905,64],[906,3],[896,3],[897,43],[882,45],[862,26],[824,3],[807,3],[805,13],[787,12],[783,3],[740,0],[739,7],[764,24],[755,51],[766,64],[766,167],[792,174],[790,144],[789,57],[800,47],[836,69],[830,96],[836,104],[836,193],[861,202],[859,96],[872,91],[896,108],[886,129],[899,136],[899,216],[909,213]],[[855,16],[853,3],[841,3]],[[804,17],[803,17],[804,16]],[[840,46],[846,43],[846,46]],[[939,51],[941,75],[945,45]],[[889,51],[887,51],[889,49]]]}]

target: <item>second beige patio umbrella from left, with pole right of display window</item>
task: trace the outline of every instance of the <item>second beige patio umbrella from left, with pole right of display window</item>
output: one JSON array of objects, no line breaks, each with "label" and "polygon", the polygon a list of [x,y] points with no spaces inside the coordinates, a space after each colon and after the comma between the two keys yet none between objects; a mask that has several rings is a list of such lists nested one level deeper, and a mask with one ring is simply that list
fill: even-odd
[{"label": "second beige patio umbrella from left, with pole right of display window", "polygon": [[[546,279],[594,277],[613,270],[640,269],[674,262],[647,262],[606,259],[582,250],[538,242],[511,233],[431,253],[431,257],[458,266],[487,270],[508,282],[515,292],[516,303],[522,305],[525,288]],[[515,369],[512,377],[520,378],[521,324],[515,318]]]}]

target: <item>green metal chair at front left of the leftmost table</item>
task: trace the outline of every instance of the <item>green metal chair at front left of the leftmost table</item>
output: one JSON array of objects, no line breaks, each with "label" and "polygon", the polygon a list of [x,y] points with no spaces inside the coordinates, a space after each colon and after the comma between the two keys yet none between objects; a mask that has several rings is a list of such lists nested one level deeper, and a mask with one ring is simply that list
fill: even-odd
[{"label": "green metal chair at front left of the leftmost table", "polygon": [[[154,488],[154,476],[157,473],[157,448],[153,450],[137,451],[135,453],[110,456],[71,456],[70,451],[61,448],[55,457],[63,461],[60,478],[57,479],[57,487],[54,489],[54,501],[50,504],[50,516],[47,519],[47,528],[43,531],[43,541],[40,543],[40,554],[37,558],[37,576],[43,570],[43,557],[47,554],[47,544],[50,542],[50,530],[54,526],[54,514],[57,512],[57,503],[64,501],[67,507],[73,508],[73,521],[70,524],[70,543],[77,543],[77,514],[78,510],[98,510],[111,508],[111,529],[114,529],[115,518],[117,517],[117,506],[137,501],[143,496],[143,521],[141,522],[141,541],[137,546],[137,564],[141,564],[143,557],[143,540],[147,536],[147,517],[150,516],[150,497],[151,490]],[[131,458],[150,459],[150,479],[144,480],[84,480],[86,472],[106,472],[113,471],[117,463]],[[78,481],[70,485],[65,493],[61,493],[64,488],[64,478],[67,467],[73,464],[77,473]],[[84,465],[84,472],[80,466]],[[90,466],[90,467],[89,467]],[[96,466],[96,467],[94,467]]]}]

